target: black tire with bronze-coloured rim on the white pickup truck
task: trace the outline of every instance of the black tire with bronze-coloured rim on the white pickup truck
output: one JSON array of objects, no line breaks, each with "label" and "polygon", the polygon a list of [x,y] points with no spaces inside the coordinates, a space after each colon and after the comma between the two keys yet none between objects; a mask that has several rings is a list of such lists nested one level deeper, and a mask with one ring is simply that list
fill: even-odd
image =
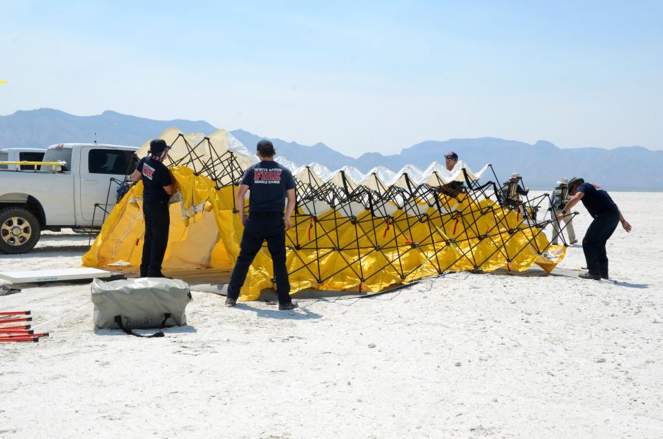
[{"label": "black tire with bronze-coloured rim on the white pickup truck", "polygon": [[0,211],[0,251],[17,255],[32,250],[41,236],[37,217],[21,207]]}]

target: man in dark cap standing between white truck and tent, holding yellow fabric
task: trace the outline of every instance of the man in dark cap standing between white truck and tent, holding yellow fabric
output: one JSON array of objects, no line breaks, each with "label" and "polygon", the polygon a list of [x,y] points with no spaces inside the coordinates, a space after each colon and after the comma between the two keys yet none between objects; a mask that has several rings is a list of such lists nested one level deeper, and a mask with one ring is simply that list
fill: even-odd
[{"label": "man in dark cap standing between white truck and tent, holding yellow fabric", "polygon": [[168,229],[171,224],[168,202],[173,195],[173,179],[163,164],[169,149],[162,139],[154,139],[150,142],[149,155],[140,160],[131,175],[133,181],[143,181],[145,239],[140,277],[164,277],[161,264],[168,246]]}]

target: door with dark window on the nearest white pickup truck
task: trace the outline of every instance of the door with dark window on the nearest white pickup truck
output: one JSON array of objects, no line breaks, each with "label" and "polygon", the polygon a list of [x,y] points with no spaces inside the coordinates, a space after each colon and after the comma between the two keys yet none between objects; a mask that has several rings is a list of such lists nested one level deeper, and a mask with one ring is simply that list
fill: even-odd
[{"label": "door with dark window on the nearest white pickup truck", "polygon": [[81,225],[100,226],[104,220],[104,211],[97,208],[95,213],[95,204],[108,212],[115,206],[115,190],[118,185],[111,182],[111,178],[122,182],[126,175],[133,173],[135,164],[132,151],[85,146],[81,148],[80,166]]}]

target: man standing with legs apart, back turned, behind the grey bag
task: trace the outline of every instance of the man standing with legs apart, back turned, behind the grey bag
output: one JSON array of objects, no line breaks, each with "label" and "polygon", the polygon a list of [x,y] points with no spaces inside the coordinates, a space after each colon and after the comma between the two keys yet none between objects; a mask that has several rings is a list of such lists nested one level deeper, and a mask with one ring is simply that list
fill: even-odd
[{"label": "man standing with legs apart, back turned, behind the grey bag", "polygon": [[[240,297],[240,289],[247,278],[249,266],[267,240],[271,254],[278,309],[287,310],[297,307],[290,298],[290,282],[285,266],[285,229],[292,228],[290,215],[295,208],[295,179],[287,168],[274,162],[274,146],[269,140],[258,142],[260,163],[249,167],[244,172],[240,188],[237,191],[237,206],[242,215],[244,233],[240,243],[240,255],[228,284],[226,306],[235,306]],[[244,212],[244,196],[249,197],[249,216]],[[285,199],[288,205],[283,214]]]}]

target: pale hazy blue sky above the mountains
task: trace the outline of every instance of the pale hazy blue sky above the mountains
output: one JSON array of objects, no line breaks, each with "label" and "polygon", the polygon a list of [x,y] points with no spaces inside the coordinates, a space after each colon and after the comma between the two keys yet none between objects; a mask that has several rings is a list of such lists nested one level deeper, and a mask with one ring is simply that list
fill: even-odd
[{"label": "pale hazy blue sky above the mountains", "polygon": [[89,3],[0,3],[0,115],[204,119],[354,156],[663,149],[663,1]]}]

